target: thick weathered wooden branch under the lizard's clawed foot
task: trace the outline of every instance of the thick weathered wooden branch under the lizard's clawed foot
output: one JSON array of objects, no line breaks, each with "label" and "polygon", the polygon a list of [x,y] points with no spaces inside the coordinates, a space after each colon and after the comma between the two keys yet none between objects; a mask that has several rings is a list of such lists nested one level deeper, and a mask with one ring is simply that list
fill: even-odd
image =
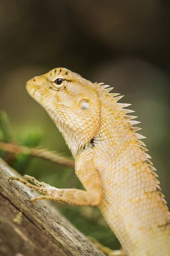
[{"label": "thick weathered wooden branch under the lizard's clawed foot", "polygon": [[104,256],[91,241],[67,221],[48,201],[31,204],[37,196],[0,159],[0,255],[1,256]]}]

